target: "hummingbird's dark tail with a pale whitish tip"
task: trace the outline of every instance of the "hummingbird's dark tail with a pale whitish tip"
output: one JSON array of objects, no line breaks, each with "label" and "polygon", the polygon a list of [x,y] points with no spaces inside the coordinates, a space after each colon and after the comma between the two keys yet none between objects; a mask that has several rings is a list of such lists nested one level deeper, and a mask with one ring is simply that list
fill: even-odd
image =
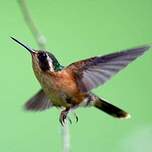
[{"label": "hummingbird's dark tail with a pale whitish tip", "polygon": [[127,112],[125,112],[124,110],[122,110],[98,97],[94,103],[94,106],[115,118],[119,118],[119,119],[130,118],[130,115]]}]

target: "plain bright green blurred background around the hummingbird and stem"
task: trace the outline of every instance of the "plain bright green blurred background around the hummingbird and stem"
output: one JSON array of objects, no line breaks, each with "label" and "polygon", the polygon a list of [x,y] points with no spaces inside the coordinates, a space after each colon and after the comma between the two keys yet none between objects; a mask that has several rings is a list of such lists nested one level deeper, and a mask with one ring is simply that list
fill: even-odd
[{"label": "plain bright green blurred background around the hummingbird and stem", "polygon": [[[151,0],[32,0],[47,48],[62,64],[152,42]],[[17,1],[0,0],[0,152],[62,151],[59,110],[31,113],[23,104],[39,88],[30,55],[9,36],[38,48]],[[80,108],[70,125],[72,152],[152,151],[152,49],[93,90],[131,113],[117,120]]]}]

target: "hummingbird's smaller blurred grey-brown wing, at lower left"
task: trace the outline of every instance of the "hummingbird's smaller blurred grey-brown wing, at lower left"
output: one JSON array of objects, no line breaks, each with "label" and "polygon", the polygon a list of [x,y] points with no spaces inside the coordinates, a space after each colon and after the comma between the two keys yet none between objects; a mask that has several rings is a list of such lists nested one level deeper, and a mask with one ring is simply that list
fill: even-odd
[{"label": "hummingbird's smaller blurred grey-brown wing, at lower left", "polygon": [[25,104],[25,109],[31,111],[41,111],[50,107],[52,107],[52,103],[42,89]]}]

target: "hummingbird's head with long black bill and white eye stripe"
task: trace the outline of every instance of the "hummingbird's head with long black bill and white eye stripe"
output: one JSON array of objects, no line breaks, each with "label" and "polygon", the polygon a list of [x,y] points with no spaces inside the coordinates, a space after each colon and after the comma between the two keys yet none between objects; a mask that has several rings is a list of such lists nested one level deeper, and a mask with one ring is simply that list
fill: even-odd
[{"label": "hummingbird's head with long black bill and white eye stripe", "polygon": [[58,60],[52,53],[42,50],[34,50],[16,40],[15,38],[11,38],[30,52],[34,70],[46,72],[59,71],[63,68],[63,66],[59,64]]}]

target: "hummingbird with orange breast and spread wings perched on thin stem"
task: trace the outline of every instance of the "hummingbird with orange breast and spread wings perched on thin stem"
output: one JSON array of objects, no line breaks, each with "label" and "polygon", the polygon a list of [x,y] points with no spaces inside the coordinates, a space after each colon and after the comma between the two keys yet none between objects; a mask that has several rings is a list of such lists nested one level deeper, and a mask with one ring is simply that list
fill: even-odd
[{"label": "hummingbird with orange breast and spread wings perched on thin stem", "polygon": [[26,110],[62,108],[59,117],[62,126],[68,118],[68,113],[78,107],[95,107],[119,119],[130,117],[129,113],[98,97],[91,90],[103,85],[129,63],[143,55],[151,45],[91,57],[64,67],[52,53],[32,49],[11,38],[31,54],[33,71],[41,85],[41,89],[25,103]]}]

